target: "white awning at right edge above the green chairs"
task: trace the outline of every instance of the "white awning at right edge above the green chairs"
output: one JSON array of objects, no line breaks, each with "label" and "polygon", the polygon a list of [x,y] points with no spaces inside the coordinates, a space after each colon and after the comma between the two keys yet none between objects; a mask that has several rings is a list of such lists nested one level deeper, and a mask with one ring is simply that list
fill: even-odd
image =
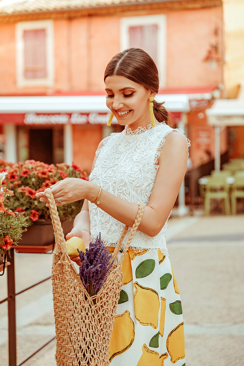
[{"label": "white awning at right edge above the green chairs", "polygon": [[218,99],[206,109],[208,123],[212,126],[244,125],[244,100]]}]

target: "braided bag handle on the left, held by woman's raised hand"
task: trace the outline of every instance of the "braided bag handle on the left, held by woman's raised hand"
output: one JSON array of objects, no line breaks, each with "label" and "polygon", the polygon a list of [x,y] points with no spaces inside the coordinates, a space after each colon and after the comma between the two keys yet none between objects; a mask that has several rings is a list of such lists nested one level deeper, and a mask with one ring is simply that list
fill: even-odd
[{"label": "braided bag handle on the left, held by woman's raised hand", "polygon": [[59,213],[57,212],[57,206],[55,205],[51,188],[46,188],[44,192],[50,205],[49,209],[54,229],[55,243],[61,247],[62,253],[67,253],[64,232],[60,223]]}]

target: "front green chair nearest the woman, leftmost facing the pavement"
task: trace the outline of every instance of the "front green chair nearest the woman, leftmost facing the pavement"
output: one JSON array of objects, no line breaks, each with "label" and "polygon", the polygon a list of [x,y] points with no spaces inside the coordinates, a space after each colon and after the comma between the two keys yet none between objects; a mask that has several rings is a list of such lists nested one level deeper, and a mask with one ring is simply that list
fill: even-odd
[{"label": "front green chair nearest the woman, leftmost facing the pavement", "polygon": [[225,210],[226,215],[230,215],[230,201],[229,201],[229,191],[230,184],[233,183],[232,177],[226,176],[209,176],[208,182],[205,186],[204,194],[204,213],[206,216],[210,215],[210,201],[211,199],[223,199],[224,205],[222,205],[222,210]]}]

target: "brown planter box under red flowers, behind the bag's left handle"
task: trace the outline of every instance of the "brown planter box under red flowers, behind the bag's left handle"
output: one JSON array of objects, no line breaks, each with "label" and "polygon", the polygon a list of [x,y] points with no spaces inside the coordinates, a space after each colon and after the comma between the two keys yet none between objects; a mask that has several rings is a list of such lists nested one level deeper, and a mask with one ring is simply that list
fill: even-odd
[{"label": "brown planter box under red flowers, behind the bag's left handle", "polygon": [[[73,228],[74,219],[71,221],[62,221],[64,236]],[[51,246],[55,242],[52,220],[39,219],[34,222],[34,225],[29,226],[27,231],[23,232],[22,239],[18,242],[18,247],[21,246]],[[18,247],[15,249],[18,250]],[[20,248],[19,248],[20,249]],[[51,248],[52,249],[52,248]],[[49,250],[51,250],[49,249]]]}]

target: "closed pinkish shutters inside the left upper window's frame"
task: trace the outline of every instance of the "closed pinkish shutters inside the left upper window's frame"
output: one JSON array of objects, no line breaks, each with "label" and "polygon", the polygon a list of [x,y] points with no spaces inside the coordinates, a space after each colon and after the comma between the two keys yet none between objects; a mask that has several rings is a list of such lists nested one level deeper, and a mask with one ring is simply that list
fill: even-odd
[{"label": "closed pinkish shutters inside the left upper window's frame", "polygon": [[46,30],[24,30],[23,38],[25,78],[46,78]]}]

